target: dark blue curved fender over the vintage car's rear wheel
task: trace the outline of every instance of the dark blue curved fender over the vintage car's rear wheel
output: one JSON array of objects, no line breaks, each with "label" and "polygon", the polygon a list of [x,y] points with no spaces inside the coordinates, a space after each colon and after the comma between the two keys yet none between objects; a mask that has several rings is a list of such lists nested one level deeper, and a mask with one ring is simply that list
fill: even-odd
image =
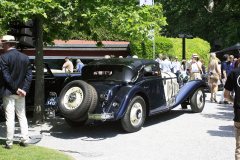
[{"label": "dark blue curved fender over the vintage car's rear wheel", "polygon": [[[114,120],[120,119],[126,113],[128,105],[135,95],[142,96],[145,100],[146,106],[148,107],[149,97],[146,91],[142,87],[128,85],[118,91],[110,105],[110,109],[107,112],[114,112]],[[114,102],[119,103],[119,106],[113,107],[112,104]]]}]

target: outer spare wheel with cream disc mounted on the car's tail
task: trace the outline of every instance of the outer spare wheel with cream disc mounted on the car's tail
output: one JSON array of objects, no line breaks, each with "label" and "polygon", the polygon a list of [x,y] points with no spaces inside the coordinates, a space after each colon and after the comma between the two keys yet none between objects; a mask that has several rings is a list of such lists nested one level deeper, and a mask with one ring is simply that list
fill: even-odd
[{"label": "outer spare wheel with cream disc mounted on the car's tail", "polygon": [[58,106],[60,113],[70,120],[86,116],[91,100],[92,89],[84,81],[76,80],[67,84],[61,91]]}]

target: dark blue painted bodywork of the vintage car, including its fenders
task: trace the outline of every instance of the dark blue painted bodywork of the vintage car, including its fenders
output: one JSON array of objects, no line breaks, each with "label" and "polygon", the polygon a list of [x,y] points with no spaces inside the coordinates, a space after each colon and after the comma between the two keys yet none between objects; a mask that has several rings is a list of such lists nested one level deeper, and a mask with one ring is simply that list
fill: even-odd
[{"label": "dark blue painted bodywork of the vintage car, including its fenders", "polygon": [[[201,80],[190,81],[172,98],[173,103],[169,105],[169,102],[166,102],[164,97],[163,79],[160,76],[149,78],[149,80],[140,80],[136,85],[129,84],[122,86],[121,82],[89,82],[89,84],[91,84],[98,93],[98,104],[105,100],[100,98],[100,94],[105,93],[108,95],[107,101],[109,102],[109,106],[104,109],[98,106],[95,113],[100,114],[103,113],[103,111],[106,113],[113,112],[114,119],[111,119],[112,121],[120,119],[126,113],[131,99],[139,93],[146,96],[145,101],[146,104],[149,104],[148,107],[150,110],[148,114],[151,116],[177,107],[186,98],[191,96],[196,89],[207,86],[206,83]],[[149,88],[144,89],[144,86],[149,86]],[[118,102],[119,106],[113,107],[113,102]]]}]

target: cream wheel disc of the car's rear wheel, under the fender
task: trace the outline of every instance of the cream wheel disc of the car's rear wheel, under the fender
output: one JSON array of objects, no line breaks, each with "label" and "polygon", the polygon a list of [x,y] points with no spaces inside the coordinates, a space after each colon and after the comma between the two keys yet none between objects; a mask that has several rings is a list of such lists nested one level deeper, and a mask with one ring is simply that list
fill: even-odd
[{"label": "cream wheel disc of the car's rear wheel, under the fender", "polygon": [[130,112],[130,121],[133,126],[137,126],[142,121],[142,105],[134,103]]}]

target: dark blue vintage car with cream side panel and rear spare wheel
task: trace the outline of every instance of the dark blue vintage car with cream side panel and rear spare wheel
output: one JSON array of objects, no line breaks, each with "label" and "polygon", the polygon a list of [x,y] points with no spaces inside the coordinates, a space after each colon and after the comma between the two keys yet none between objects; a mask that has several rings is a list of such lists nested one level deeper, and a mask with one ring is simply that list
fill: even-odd
[{"label": "dark blue vintage car with cream side panel and rear spare wheel", "polygon": [[87,119],[121,120],[125,131],[136,132],[147,115],[163,113],[180,104],[202,112],[205,87],[204,81],[195,80],[179,88],[176,75],[161,72],[153,60],[104,59],[83,67],[82,80],[63,88],[58,106],[72,127],[84,125]]}]

